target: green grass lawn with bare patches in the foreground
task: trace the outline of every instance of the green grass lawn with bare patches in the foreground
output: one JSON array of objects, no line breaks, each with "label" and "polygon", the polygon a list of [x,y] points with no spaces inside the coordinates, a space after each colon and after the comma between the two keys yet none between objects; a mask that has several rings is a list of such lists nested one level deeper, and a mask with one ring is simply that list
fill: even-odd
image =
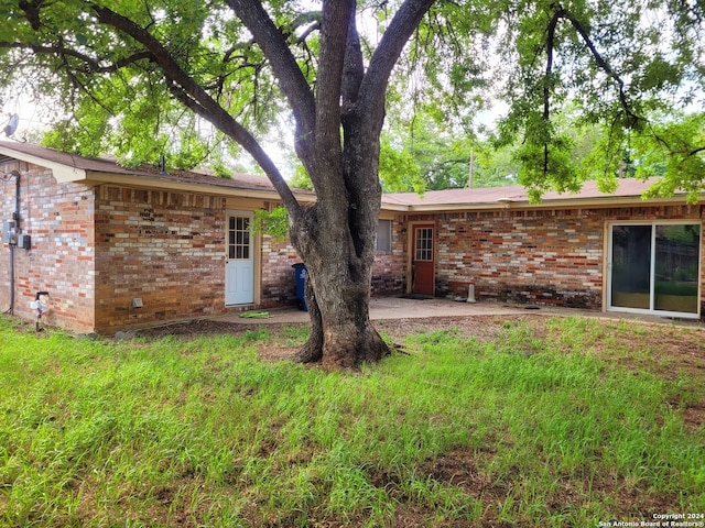
[{"label": "green grass lawn with bare patches in the foreground", "polygon": [[[303,342],[295,327],[115,342],[0,318],[0,526],[705,514],[701,330],[492,323],[491,339],[409,334],[406,353],[351,375],[259,359]],[[687,364],[660,349],[681,341]]]}]

